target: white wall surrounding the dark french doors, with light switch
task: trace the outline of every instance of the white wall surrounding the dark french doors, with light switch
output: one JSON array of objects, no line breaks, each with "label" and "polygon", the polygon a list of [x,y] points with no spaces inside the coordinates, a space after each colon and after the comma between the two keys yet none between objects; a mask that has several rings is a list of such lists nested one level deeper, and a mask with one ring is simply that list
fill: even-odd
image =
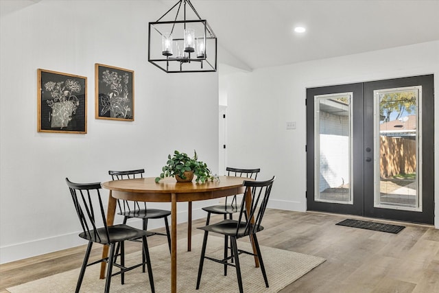
[{"label": "white wall surrounding the dark french doors, with light switch", "polygon": [[[430,73],[438,91],[439,41],[221,77],[228,97],[228,165],[261,167],[261,178],[276,175],[270,207],[306,211],[306,89]],[[438,102],[435,117],[439,129]],[[296,130],[286,130],[286,121],[296,121]],[[438,135],[435,142],[439,154]],[[437,188],[435,202],[439,228]]]}]

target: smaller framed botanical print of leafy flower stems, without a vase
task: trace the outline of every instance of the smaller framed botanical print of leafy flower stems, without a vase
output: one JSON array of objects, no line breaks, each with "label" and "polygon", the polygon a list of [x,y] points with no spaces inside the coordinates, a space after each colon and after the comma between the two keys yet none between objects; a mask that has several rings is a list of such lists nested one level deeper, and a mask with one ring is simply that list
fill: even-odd
[{"label": "smaller framed botanical print of leafy flower stems, without a vase", "polygon": [[134,121],[134,71],[95,64],[95,118]]}]

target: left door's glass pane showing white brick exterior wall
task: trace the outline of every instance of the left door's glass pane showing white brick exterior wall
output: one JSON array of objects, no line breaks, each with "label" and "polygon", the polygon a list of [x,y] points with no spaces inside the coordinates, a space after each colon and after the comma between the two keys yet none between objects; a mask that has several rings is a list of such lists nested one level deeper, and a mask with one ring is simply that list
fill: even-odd
[{"label": "left door's glass pane showing white brick exterior wall", "polygon": [[353,93],[314,96],[314,200],[352,204]]}]

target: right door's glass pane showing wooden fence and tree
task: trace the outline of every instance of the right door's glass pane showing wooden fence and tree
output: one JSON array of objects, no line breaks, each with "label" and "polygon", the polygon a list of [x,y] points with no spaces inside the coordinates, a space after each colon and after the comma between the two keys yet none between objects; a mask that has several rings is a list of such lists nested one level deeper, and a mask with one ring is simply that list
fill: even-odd
[{"label": "right door's glass pane showing wooden fence and tree", "polygon": [[420,211],[420,86],[374,91],[375,207]]}]

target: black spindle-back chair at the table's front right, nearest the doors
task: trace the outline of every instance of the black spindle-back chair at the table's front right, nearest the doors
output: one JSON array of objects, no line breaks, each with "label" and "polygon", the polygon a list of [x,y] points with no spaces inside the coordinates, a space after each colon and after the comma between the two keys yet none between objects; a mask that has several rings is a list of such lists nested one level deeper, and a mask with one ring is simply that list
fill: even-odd
[{"label": "black spindle-back chair at the table's front right, nearest the doors", "polygon": [[[272,179],[266,181],[244,181],[243,185],[246,187],[245,194],[251,194],[251,199],[247,200],[247,196],[242,198],[239,209],[239,218],[237,220],[226,219],[215,224],[199,227],[200,229],[204,230],[204,238],[200,255],[200,266],[198,267],[197,290],[200,288],[204,259],[209,259],[211,261],[224,263],[226,266],[234,266],[236,268],[239,292],[242,293],[244,290],[242,286],[241,268],[239,266],[239,254],[241,253],[257,256],[263,279],[265,281],[265,286],[268,288],[267,274],[265,273],[265,267],[263,265],[261,250],[259,248],[256,234],[263,230],[261,222],[265,209],[267,208],[268,198],[270,197],[274,179],[275,177],[273,176]],[[233,255],[224,259],[206,257],[206,245],[209,232],[230,237]],[[250,236],[250,239],[252,239],[254,248],[256,249],[256,254],[237,248],[237,239],[246,236]],[[229,262],[230,259],[234,259],[235,263]]]}]

